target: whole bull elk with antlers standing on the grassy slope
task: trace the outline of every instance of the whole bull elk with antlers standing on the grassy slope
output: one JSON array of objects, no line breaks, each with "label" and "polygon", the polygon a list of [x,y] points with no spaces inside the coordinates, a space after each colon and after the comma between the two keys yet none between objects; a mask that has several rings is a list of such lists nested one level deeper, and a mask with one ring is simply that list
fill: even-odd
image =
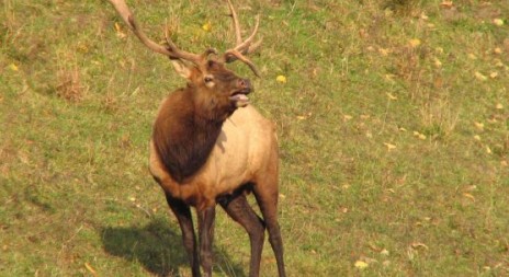
[{"label": "whole bull elk with antlers standing on the grassy slope", "polygon": [[[279,153],[275,125],[249,105],[253,90],[225,65],[240,60],[256,76],[246,57],[261,43],[253,32],[242,39],[237,13],[227,0],[236,45],[218,55],[179,49],[166,35],[166,45],[149,39],[124,0],[110,0],[140,42],[170,58],[186,86],[170,93],[159,107],[149,142],[149,171],[165,192],[182,231],[193,276],[212,275],[212,242],[217,204],[248,233],[251,246],[249,276],[258,276],[265,229],[274,252],[279,276],[285,276],[283,242],[278,223]],[[252,193],[260,218],[247,200]],[[191,207],[197,216],[194,233]]]}]

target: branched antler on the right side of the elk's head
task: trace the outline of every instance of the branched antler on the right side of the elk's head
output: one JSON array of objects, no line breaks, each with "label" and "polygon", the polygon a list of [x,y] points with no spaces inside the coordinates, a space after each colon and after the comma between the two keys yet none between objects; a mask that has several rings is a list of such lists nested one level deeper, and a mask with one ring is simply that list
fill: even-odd
[{"label": "branched antler on the right side of the elk's head", "polygon": [[249,53],[255,51],[262,42],[262,39],[260,39],[257,43],[252,44],[255,35],[258,32],[258,26],[260,24],[260,15],[257,16],[257,23],[255,25],[255,30],[252,31],[251,35],[246,41],[242,42],[242,36],[240,35],[240,25],[239,25],[239,21],[237,18],[237,12],[235,11],[234,5],[231,4],[231,1],[230,0],[227,0],[227,1],[228,1],[229,11],[231,12],[231,19],[234,21],[236,46],[225,51],[225,54],[223,55],[223,61],[233,62],[238,59],[245,62],[246,65],[248,65],[249,68],[252,70],[252,72],[256,76],[260,77],[257,68],[255,67],[255,64],[252,64],[252,61],[246,58],[245,56],[245,55],[248,55]]}]

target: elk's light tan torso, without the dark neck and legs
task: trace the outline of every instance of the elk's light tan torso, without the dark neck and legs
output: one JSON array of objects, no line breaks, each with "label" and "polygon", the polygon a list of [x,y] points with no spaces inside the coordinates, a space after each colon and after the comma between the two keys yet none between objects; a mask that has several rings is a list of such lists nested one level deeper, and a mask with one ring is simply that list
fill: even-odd
[{"label": "elk's light tan torso, without the dark neck and legs", "polygon": [[217,196],[231,194],[244,184],[256,183],[270,166],[276,172],[275,126],[251,105],[238,108],[226,119],[206,163],[182,183],[170,176],[150,141],[151,174],[165,192],[197,209],[216,205]]}]

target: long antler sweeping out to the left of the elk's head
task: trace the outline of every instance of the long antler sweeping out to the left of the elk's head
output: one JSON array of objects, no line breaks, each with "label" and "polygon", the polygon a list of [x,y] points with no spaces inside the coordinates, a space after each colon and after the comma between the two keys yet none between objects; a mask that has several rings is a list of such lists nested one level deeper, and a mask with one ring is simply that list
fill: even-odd
[{"label": "long antler sweeping out to the left of the elk's head", "polygon": [[129,26],[133,33],[139,38],[139,41],[152,51],[169,56],[170,58],[174,58],[174,59],[189,60],[196,65],[200,64],[200,61],[202,60],[201,55],[196,55],[196,54],[192,54],[192,53],[188,53],[188,51],[183,51],[179,49],[168,36],[166,37],[167,43],[168,43],[168,48],[160,44],[152,42],[142,31],[142,28],[139,27],[133,13],[131,12],[129,8],[127,7],[124,0],[109,0],[109,1],[113,4],[115,10],[122,16],[124,22]]}]

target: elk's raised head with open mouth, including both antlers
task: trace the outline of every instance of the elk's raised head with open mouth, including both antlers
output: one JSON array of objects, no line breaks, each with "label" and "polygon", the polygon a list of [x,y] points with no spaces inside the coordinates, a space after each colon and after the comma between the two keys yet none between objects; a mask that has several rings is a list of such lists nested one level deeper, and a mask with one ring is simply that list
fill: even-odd
[{"label": "elk's raised head with open mouth, including both antlers", "polygon": [[259,76],[255,65],[246,57],[261,44],[261,39],[252,43],[258,32],[259,16],[257,16],[251,35],[242,41],[237,13],[230,0],[227,0],[234,22],[236,46],[223,55],[218,55],[214,48],[207,48],[199,55],[179,49],[168,34],[165,34],[166,45],[152,42],[142,31],[124,0],[110,0],[110,2],[145,46],[170,58],[176,71],[188,80],[188,86],[193,89],[197,99],[203,99],[206,95],[212,102],[230,105],[233,109],[248,105],[249,99],[246,95],[252,91],[251,82],[249,79],[239,78],[228,70],[225,64],[240,60],[248,65],[256,76]]}]

